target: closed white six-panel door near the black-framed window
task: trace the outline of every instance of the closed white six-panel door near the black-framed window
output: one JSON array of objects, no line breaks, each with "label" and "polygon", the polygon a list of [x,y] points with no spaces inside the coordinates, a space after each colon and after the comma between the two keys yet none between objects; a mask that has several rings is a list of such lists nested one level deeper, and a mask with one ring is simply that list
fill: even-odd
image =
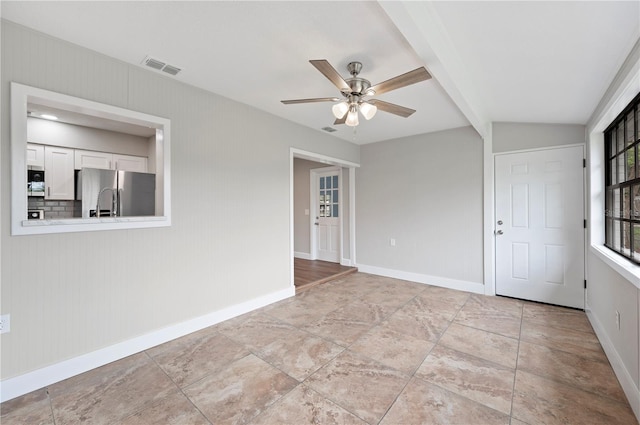
[{"label": "closed white six-panel door near the black-framed window", "polygon": [[583,148],[496,155],[496,294],[584,308]]}]

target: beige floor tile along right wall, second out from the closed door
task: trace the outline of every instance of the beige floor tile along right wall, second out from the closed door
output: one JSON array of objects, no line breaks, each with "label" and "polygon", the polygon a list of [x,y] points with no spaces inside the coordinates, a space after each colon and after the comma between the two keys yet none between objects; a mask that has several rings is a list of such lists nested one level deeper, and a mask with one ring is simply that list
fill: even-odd
[{"label": "beige floor tile along right wall, second out from the closed door", "polygon": [[521,340],[583,357],[590,357],[595,360],[606,361],[606,355],[598,338],[591,332],[549,328],[537,323],[525,322],[522,324]]}]

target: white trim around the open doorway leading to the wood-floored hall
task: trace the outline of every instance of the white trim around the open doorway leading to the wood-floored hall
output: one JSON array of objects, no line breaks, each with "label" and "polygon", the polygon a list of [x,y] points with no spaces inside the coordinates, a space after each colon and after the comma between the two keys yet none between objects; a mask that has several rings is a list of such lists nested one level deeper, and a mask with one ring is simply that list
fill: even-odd
[{"label": "white trim around the open doorway leading to the wood-floored hall", "polygon": [[[289,148],[289,261],[290,261],[290,285],[295,287],[293,277],[293,257],[294,257],[294,227],[293,227],[293,160],[294,158],[306,159],[309,161],[315,161],[327,166],[337,166],[349,169],[349,259],[342,258],[343,240],[342,237],[342,222],[341,222],[341,238],[340,238],[340,264],[346,266],[356,265],[356,168],[360,167],[360,164],[355,162],[346,161],[340,158],[334,158],[327,155],[309,152],[298,148]],[[342,179],[340,179],[342,180]],[[342,183],[341,183],[342,184]],[[341,186],[342,187],[342,186]],[[340,191],[342,196],[342,190]],[[342,200],[342,198],[341,198]],[[342,214],[342,202],[340,203],[341,220],[344,214]]]}]

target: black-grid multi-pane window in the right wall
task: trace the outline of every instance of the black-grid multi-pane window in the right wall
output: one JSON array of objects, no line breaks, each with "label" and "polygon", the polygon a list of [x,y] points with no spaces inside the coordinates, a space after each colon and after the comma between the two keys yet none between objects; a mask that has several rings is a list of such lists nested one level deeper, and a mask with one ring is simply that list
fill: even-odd
[{"label": "black-grid multi-pane window in the right wall", "polygon": [[604,132],[605,245],[640,264],[640,95]]}]

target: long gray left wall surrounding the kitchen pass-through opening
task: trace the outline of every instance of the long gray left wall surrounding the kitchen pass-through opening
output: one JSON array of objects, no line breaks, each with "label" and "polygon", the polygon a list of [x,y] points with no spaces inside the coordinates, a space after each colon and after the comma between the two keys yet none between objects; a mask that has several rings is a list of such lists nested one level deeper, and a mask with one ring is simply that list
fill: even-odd
[{"label": "long gray left wall surrounding the kitchen pass-through opening", "polygon": [[[172,226],[12,237],[10,81],[170,119]],[[290,147],[359,162],[356,145],[6,21],[1,84],[2,379],[290,288]]]}]

